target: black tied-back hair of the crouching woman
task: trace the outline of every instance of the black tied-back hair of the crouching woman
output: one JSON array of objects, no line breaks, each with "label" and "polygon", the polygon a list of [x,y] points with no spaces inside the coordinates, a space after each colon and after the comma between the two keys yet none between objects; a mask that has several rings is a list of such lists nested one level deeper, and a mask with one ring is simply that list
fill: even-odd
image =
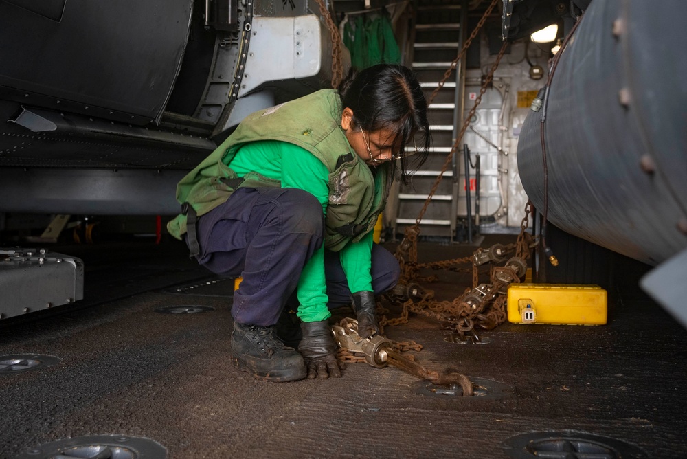
[{"label": "black tied-back hair of the crouching woman", "polygon": [[408,162],[420,167],[429,154],[431,136],[427,121],[427,100],[413,72],[403,65],[378,64],[357,71],[350,69],[339,85],[343,108],[353,111],[353,125],[364,131],[389,129],[405,146],[418,153],[401,157],[401,177],[407,183]]}]

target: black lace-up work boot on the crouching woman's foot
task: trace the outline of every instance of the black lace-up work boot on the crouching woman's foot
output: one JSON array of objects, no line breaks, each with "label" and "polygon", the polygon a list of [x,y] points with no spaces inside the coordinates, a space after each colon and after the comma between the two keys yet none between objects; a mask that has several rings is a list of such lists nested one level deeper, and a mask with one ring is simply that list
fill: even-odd
[{"label": "black lace-up work boot on the crouching woman's foot", "polygon": [[262,327],[234,322],[232,361],[235,366],[267,381],[304,379],[308,374],[303,357],[284,346],[274,326]]}]

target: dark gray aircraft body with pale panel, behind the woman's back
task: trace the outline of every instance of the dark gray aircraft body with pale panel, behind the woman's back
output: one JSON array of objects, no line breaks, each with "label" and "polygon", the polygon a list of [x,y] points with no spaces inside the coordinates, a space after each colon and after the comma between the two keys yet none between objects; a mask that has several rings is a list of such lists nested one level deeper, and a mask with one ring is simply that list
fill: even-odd
[{"label": "dark gray aircraft body with pale panel, behind the woman's back", "polygon": [[0,43],[0,212],[176,214],[243,117],[332,74],[307,0],[3,1]]}]

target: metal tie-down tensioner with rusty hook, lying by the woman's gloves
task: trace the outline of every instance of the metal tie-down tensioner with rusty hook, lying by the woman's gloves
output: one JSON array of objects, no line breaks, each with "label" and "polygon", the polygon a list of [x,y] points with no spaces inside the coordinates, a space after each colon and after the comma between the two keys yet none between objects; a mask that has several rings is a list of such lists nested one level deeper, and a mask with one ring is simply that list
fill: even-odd
[{"label": "metal tie-down tensioner with rusty hook, lying by the woman's gloves", "polygon": [[362,338],[358,335],[358,321],[346,317],[338,325],[332,326],[334,339],[339,347],[345,348],[350,352],[359,352],[365,355],[365,361],[375,368],[384,368],[387,365],[395,366],[414,377],[426,379],[435,385],[455,385],[462,388],[464,396],[473,394],[473,383],[468,377],[460,373],[442,374],[436,371],[427,370],[394,350],[394,344],[390,339],[381,335],[374,335],[370,338]]}]

